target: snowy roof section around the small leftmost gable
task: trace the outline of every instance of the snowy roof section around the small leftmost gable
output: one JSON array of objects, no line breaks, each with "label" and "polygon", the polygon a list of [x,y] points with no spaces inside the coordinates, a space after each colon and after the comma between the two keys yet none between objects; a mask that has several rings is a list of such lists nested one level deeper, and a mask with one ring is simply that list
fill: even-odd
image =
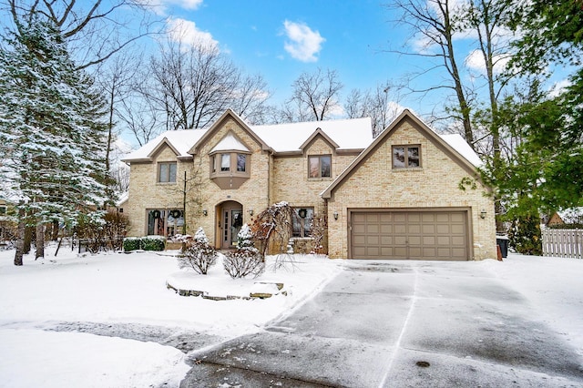
[{"label": "snowy roof section around the small leftmost gable", "polygon": [[178,153],[179,158],[190,158],[189,149],[199,138],[207,132],[207,129],[185,129],[185,130],[169,130],[158,138],[148,141],[147,144],[130,152],[125,158],[121,160],[124,162],[132,161],[148,161],[152,159],[152,154],[159,149],[164,143],[169,144],[171,148]]}]

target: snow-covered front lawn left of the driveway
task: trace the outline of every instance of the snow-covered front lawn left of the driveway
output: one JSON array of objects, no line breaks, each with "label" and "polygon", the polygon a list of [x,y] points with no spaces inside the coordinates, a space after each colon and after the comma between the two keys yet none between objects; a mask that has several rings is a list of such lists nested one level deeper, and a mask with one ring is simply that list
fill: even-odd
[{"label": "snow-covered front lawn left of the driveway", "polygon": [[[0,385],[178,386],[189,366],[184,353],[173,347],[87,333],[90,330],[46,330],[75,327],[76,322],[85,323],[86,329],[91,324],[129,325],[142,339],[151,336],[152,328],[163,327],[224,341],[256,332],[292,311],[341,271],[340,261],[296,256],[288,271],[274,272],[268,263],[257,280],[231,280],[220,260],[207,276],[187,274],[179,270],[172,252],[80,257],[68,250],[54,257],[53,252],[49,248],[45,260],[26,256],[18,268],[13,265],[14,250],[0,250]],[[282,282],[287,296],[252,301],[182,297],[167,289],[169,279],[213,296],[248,294],[255,281]]]}]

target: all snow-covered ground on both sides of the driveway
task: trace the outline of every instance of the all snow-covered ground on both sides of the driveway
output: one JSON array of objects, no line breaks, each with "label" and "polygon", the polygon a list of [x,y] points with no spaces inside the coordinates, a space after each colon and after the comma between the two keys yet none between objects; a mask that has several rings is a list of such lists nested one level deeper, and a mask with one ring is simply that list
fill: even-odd
[{"label": "all snow-covered ground on both sides of the driveway", "polygon": [[[231,280],[220,262],[207,277],[187,274],[170,254],[61,251],[54,257],[49,249],[45,260],[29,256],[17,268],[14,250],[0,250],[0,385],[178,386],[189,365],[177,348],[200,349],[259,332],[310,299],[346,264],[296,256],[293,270],[268,268],[255,280],[283,282],[287,296],[210,301],[181,297],[166,281],[225,296],[245,294],[254,280]],[[544,311],[540,319],[583,355],[583,260],[511,255],[503,262],[447,265],[492,271]]]}]

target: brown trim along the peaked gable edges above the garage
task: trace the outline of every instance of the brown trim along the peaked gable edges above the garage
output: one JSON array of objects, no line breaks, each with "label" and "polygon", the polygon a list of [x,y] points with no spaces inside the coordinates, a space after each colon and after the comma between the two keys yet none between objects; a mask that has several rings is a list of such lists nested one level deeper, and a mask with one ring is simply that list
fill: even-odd
[{"label": "brown trim along the peaked gable edges above the garage", "polygon": [[476,167],[472,163],[470,163],[467,159],[460,155],[459,152],[447,144],[444,139],[440,138],[431,128],[424,124],[424,122],[416,117],[409,109],[404,109],[403,113],[401,113],[399,117],[396,117],[393,122],[387,128],[385,128],[377,138],[374,139],[373,143],[371,143],[369,147],[365,148],[363,152],[357,158],[355,158],[347,168],[344,169],[342,174],[340,174],[332,181],[327,189],[322,191],[320,194],[322,198],[332,198],[332,192],[334,189],[342,186],[343,182],[348,179],[350,175],[352,175],[353,171],[356,171],[358,168],[360,168],[363,162],[369,158],[369,156],[373,155],[376,149],[388,138],[390,138],[397,128],[401,128],[405,120],[409,120],[413,124],[414,128],[416,128],[425,138],[434,143],[435,147],[444,151],[445,154],[454,160],[455,163],[457,163],[461,168],[464,168],[465,171],[470,174],[470,176],[477,178]]}]

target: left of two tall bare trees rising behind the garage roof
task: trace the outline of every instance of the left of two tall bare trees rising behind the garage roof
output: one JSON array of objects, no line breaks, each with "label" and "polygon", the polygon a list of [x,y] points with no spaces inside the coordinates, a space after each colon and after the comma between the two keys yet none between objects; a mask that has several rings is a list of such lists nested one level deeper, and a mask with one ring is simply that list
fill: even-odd
[{"label": "left of two tall bare trees rising behind the garage roof", "polygon": [[[423,56],[427,59],[427,66],[424,69],[407,76],[406,87],[421,95],[442,88],[451,89],[456,99],[451,114],[462,122],[465,140],[475,148],[470,115],[472,92],[462,82],[454,45],[454,35],[459,31],[457,23],[460,22],[456,18],[460,9],[456,8],[455,4],[457,3],[454,0],[394,0],[387,6],[400,12],[401,17],[396,22],[410,28],[412,35],[407,43],[414,43],[415,46],[414,50],[394,52],[405,56]],[[426,87],[412,86],[415,77],[443,68],[448,75],[445,82]]]}]

